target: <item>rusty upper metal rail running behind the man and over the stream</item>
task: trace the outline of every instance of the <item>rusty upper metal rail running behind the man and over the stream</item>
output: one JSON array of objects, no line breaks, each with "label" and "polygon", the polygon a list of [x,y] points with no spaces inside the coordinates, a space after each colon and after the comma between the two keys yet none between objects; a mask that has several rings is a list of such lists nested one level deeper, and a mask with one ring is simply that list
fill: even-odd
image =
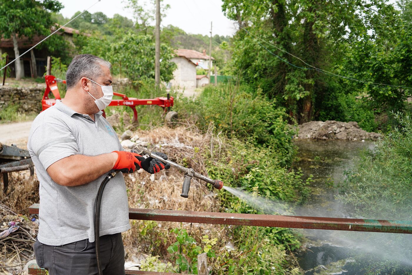
[{"label": "rusty upper metal rail running behind the man and over the stream", "polygon": [[[30,214],[39,214],[39,204],[30,206],[29,212]],[[173,211],[140,208],[129,208],[129,219],[412,234],[412,221]]]}]

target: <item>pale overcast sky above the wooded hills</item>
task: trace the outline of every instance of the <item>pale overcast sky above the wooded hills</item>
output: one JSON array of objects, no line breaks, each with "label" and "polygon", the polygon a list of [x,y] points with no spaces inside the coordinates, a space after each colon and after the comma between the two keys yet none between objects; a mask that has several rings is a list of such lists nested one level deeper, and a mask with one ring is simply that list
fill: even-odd
[{"label": "pale overcast sky above the wooded hills", "polygon": [[[60,13],[70,18],[77,11],[83,11],[97,2],[97,0],[59,0],[64,8]],[[142,0],[142,2],[151,2]],[[101,0],[89,9],[90,13],[103,12],[108,17],[113,14],[121,14],[133,19],[133,14],[126,9],[125,0]],[[212,35],[233,35],[235,33],[234,21],[223,15],[221,0],[164,0],[170,9],[162,20],[162,26],[173,25],[183,29],[186,33],[200,33],[209,35],[210,22],[213,21]]]}]

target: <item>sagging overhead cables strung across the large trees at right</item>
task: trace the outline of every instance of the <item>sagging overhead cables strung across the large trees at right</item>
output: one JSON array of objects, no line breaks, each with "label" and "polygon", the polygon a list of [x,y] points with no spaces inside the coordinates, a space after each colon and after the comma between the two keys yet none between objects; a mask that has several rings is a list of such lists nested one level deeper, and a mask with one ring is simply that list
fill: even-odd
[{"label": "sagging overhead cables strung across the large trees at right", "polygon": [[336,73],[332,73],[332,72],[323,70],[323,69],[321,69],[321,68],[316,68],[315,66],[312,66],[312,65],[306,63],[305,61],[303,61],[303,60],[300,59],[299,57],[291,54],[290,52],[287,52],[287,51],[285,51],[284,49],[281,49],[281,48],[277,47],[276,45],[274,45],[274,44],[266,41],[265,39],[260,38],[260,37],[257,36],[257,35],[254,35],[254,34],[251,33],[250,31],[246,30],[246,28],[244,28],[243,26],[240,26],[240,25],[239,25],[239,27],[242,28],[243,30],[245,30],[248,34],[252,35],[253,37],[258,38],[258,39],[262,40],[263,42],[265,42],[266,44],[268,44],[268,45],[270,45],[270,46],[272,46],[272,47],[275,47],[276,49],[279,49],[280,51],[282,51],[282,52],[284,52],[284,53],[286,53],[286,54],[289,54],[290,56],[293,56],[294,58],[302,61],[305,65],[309,66],[310,68],[305,68],[305,67],[296,66],[296,65],[288,62],[287,60],[281,58],[279,55],[274,54],[274,53],[271,52],[267,47],[263,46],[262,44],[260,44],[260,43],[258,42],[258,44],[259,44],[260,46],[264,47],[264,48],[267,50],[267,52],[269,52],[270,54],[276,56],[276,57],[277,57],[278,59],[280,59],[281,61],[288,63],[290,66],[293,66],[293,67],[296,67],[296,68],[300,68],[300,69],[305,69],[305,70],[315,70],[315,71],[318,71],[318,72],[320,72],[320,73],[324,73],[325,75],[332,75],[332,76],[337,76],[337,77],[339,77],[339,78],[345,78],[345,79],[349,79],[349,80],[353,80],[353,81],[358,81],[358,82],[362,82],[362,83],[367,83],[367,84],[371,84],[372,86],[375,86],[375,87],[378,87],[378,86],[383,85],[383,86],[396,87],[396,88],[412,89],[412,87],[407,87],[407,86],[390,85],[390,84],[377,83],[377,82],[372,82],[372,81],[359,80],[359,79],[347,77],[347,76],[344,76],[344,75],[338,75],[338,74],[336,74]]}]

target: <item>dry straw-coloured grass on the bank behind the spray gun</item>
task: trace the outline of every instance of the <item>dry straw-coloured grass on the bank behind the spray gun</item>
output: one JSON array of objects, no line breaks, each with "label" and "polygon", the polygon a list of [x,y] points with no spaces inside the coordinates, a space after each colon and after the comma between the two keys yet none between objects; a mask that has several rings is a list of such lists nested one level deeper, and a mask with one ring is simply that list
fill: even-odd
[{"label": "dry straw-coloured grass on the bank behind the spray gun", "polygon": [[[135,134],[145,137],[145,141],[149,142],[149,150],[166,153],[170,160],[192,167],[204,175],[207,175],[202,157],[204,151],[210,151],[210,148],[215,146],[222,147],[222,141],[214,138],[211,131],[200,134],[193,126],[180,126],[174,129],[164,126],[150,131],[139,130]],[[150,174],[144,171],[125,176],[130,207],[208,212],[218,212],[220,209],[217,193],[211,192],[203,181],[193,178],[189,197],[183,198],[180,197],[183,173],[171,168],[155,174],[152,179],[150,177]],[[131,225],[131,230],[124,233],[124,243],[129,260],[135,261],[141,259],[142,253],[166,255],[167,247],[176,241],[169,234],[172,228],[185,228],[199,244],[201,236],[208,234],[217,237],[220,240],[219,244],[224,246],[228,241],[227,235],[230,235],[227,227],[220,225],[176,222],[153,224],[147,221],[132,221]],[[146,232],[147,228],[149,232]]]}]

